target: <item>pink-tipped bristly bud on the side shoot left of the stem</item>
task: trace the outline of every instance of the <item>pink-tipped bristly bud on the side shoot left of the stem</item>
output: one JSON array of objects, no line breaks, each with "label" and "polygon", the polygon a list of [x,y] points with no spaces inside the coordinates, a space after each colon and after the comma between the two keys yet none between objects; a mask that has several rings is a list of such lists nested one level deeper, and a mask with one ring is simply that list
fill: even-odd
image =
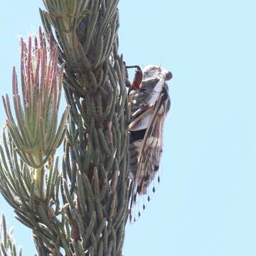
[{"label": "pink-tipped bristly bud on the side shoot left of the stem", "polygon": [[3,97],[6,125],[29,166],[39,168],[60,145],[65,133],[69,107],[58,127],[58,108],[63,85],[63,66],[58,66],[58,48],[53,42],[47,48],[46,37],[39,28],[39,38],[21,38],[21,91],[18,92],[16,69],[13,69],[12,90],[14,119],[9,97]]}]

